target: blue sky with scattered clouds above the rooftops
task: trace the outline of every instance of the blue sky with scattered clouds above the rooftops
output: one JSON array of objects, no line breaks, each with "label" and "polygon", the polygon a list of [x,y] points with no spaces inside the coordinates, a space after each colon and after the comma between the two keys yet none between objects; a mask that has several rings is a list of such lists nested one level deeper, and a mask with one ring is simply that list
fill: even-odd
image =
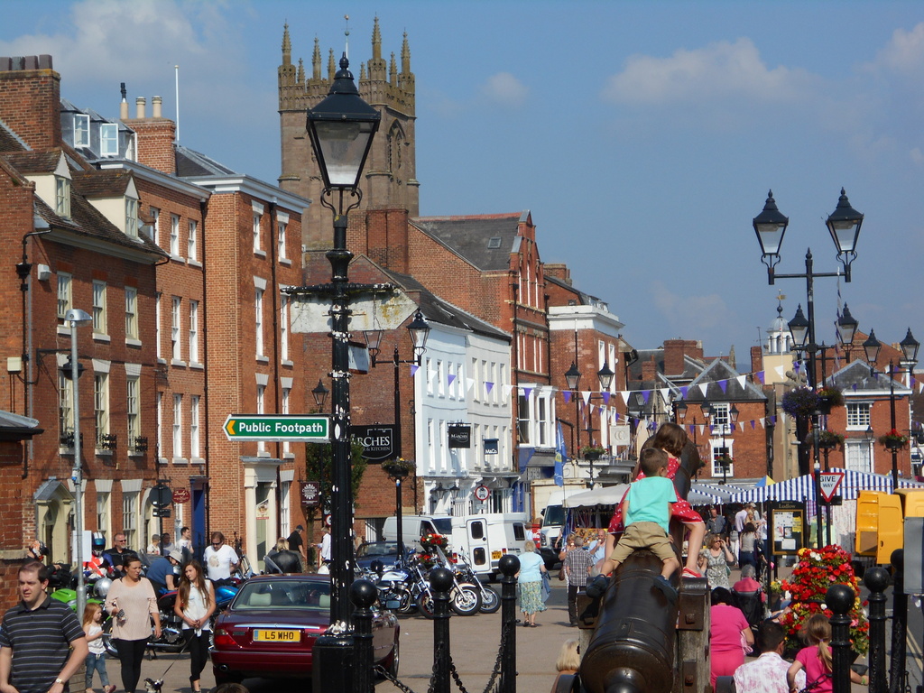
[{"label": "blue sky with scattered clouds above the rooftops", "polygon": [[[117,117],[164,97],[179,138],[266,181],[279,174],[277,67],[289,24],[310,70],[349,31],[355,73],[400,58],[417,83],[423,215],[529,210],[541,259],[609,304],[638,348],[734,346],[740,371],[783,294],[751,221],[789,217],[778,274],[839,267],[824,222],[845,188],[866,215],[849,284],[815,281],[818,341],[837,292],[860,330],[924,340],[924,3],[484,0],[0,0],[0,55],[51,54],[61,94]],[[349,15],[348,24],[344,16]]]}]

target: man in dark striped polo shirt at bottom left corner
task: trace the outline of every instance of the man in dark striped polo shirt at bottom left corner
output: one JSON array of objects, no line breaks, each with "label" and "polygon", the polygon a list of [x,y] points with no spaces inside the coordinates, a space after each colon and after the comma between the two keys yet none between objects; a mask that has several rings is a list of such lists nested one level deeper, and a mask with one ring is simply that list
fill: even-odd
[{"label": "man in dark striped polo shirt at bottom left corner", "polygon": [[87,659],[77,615],[49,597],[47,587],[47,567],[30,561],[19,568],[22,601],[0,625],[0,693],[64,693]]}]

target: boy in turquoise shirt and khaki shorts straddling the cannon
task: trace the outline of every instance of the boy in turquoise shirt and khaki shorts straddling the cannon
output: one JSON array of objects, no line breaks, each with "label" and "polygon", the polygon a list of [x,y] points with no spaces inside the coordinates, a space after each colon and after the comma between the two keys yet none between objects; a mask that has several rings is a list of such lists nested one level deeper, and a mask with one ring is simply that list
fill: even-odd
[{"label": "boy in turquoise shirt and khaki shorts straddling the cannon", "polygon": [[670,602],[675,602],[677,590],[668,578],[680,568],[680,562],[671,543],[668,523],[677,494],[674,482],[667,478],[667,453],[654,447],[642,450],[639,465],[645,476],[632,482],[622,504],[626,530],[613,553],[603,561],[601,572],[614,571],[634,551],[650,549],[663,565],[655,586]]}]

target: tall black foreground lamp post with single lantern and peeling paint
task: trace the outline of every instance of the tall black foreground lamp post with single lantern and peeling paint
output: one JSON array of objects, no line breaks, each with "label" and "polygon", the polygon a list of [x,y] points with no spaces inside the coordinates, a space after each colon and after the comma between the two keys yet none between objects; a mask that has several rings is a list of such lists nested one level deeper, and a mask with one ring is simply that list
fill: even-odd
[{"label": "tall black foreground lamp post with single lantern and peeling paint", "polygon": [[313,649],[314,686],[318,691],[342,691],[352,687],[353,493],[350,462],[349,403],[349,303],[351,296],[368,293],[371,286],[350,284],[346,249],[347,214],[359,206],[359,176],[369,156],[381,114],[359,96],[346,54],[328,95],[308,112],[311,149],[324,183],[321,203],[334,214],[334,248],[326,255],[331,263],[331,282],[302,286],[292,293],[321,295],[331,300],[333,413],[331,415],[331,627],[317,639]]}]

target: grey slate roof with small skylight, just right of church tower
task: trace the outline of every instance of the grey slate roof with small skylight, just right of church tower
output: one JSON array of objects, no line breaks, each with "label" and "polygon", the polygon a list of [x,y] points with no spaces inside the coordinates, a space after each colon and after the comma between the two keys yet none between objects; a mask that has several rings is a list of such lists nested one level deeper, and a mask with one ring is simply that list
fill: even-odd
[{"label": "grey slate roof with small skylight, just right of church tower", "polygon": [[428,216],[411,219],[419,228],[482,271],[506,271],[519,249],[519,224],[529,212]]}]

